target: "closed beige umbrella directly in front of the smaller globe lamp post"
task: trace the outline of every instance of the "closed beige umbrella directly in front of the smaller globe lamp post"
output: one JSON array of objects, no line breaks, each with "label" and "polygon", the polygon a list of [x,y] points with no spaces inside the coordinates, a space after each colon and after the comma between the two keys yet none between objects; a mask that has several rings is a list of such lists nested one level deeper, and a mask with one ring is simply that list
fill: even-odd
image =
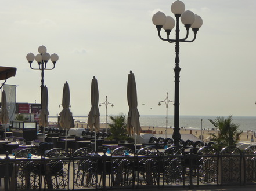
[{"label": "closed beige umbrella directly in front of the smaller globe lamp post", "polygon": [[48,89],[44,86],[42,90],[42,102],[41,102],[41,112],[39,116],[39,126],[43,127],[43,140],[45,141],[45,127],[48,126]]}]

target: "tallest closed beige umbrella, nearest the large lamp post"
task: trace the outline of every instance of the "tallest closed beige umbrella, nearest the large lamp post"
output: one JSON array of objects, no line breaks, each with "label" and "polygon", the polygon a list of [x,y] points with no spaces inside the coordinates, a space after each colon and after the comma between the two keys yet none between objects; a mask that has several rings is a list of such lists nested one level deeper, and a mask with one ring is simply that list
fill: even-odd
[{"label": "tallest closed beige umbrella, nearest the large lamp post", "polygon": [[[128,83],[127,83],[127,101],[129,105],[129,112],[127,117],[127,131],[129,134],[134,132],[137,135],[140,134],[140,124],[139,124],[139,111],[137,109],[137,89],[135,76],[132,71],[128,74]],[[135,137],[135,149],[136,149],[136,137]]]}]

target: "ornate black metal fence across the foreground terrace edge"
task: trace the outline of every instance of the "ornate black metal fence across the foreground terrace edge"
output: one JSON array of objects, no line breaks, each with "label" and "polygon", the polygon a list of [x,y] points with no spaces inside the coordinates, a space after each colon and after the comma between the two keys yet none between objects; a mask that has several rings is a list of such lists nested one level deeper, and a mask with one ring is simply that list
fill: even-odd
[{"label": "ornate black metal fence across the foreground terrace edge", "polygon": [[256,183],[256,146],[243,152],[233,146],[221,152],[204,146],[188,153],[174,146],[165,150],[146,147],[135,154],[125,147],[117,149],[113,151],[116,155],[99,155],[89,148],[70,155],[67,150],[55,148],[42,156],[33,149],[24,149],[14,159],[6,155],[0,160],[4,166],[3,171],[0,166],[0,174],[5,175],[5,190],[193,188]]}]

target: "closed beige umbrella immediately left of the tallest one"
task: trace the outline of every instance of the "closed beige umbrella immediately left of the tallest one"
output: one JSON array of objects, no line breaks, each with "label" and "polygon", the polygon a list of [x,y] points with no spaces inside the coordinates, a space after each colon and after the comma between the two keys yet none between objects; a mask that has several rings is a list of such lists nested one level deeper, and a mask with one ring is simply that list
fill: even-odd
[{"label": "closed beige umbrella immediately left of the tallest one", "polygon": [[95,137],[95,150],[96,150],[96,131],[99,132],[100,128],[100,113],[99,113],[99,90],[98,90],[98,82],[95,76],[93,76],[91,83],[91,110],[88,115],[88,125],[93,131],[93,127],[95,129],[94,137]]}]

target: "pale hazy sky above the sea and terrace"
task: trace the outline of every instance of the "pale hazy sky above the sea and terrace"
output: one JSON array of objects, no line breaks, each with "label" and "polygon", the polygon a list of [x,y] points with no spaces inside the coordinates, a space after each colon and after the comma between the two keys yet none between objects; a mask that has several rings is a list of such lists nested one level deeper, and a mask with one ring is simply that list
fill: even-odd
[{"label": "pale hazy sky above the sea and terrace", "polygon": [[[62,108],[70,86],[74,115],[91,108],[91,80],[98,79],[99,103],[108,115],[128,113],[127,79],[135,74],[140,115],[165,115],[159,101],[174,101],[175,44],[161,41],[152,16],[158,10],[174,17],[173,1],[156,0],[12,0],[0,6],[0,65],[16,67],[6,84],[16,85],[16,102],[40,102],[41,71],[30,69],[26,55],[59,55],[45,71],[49,113]],[[255,116],[255,0],[184,0],[186,10],[203,19],[192,43],[180,43],[180,115]],[[181,38],[185,27],[180,24]],[[165,32],[161,33],[165,37]],[[175,30],[171,32],[175,38]],[[189,39],[193,38],[190,31]],[[38,64],[34,61],[33,67]],[[52,67],[51,61],[48,67]],[[100,108],[105,114],[105,106]],[[174,106],[168,105],[168,115]]]}]

